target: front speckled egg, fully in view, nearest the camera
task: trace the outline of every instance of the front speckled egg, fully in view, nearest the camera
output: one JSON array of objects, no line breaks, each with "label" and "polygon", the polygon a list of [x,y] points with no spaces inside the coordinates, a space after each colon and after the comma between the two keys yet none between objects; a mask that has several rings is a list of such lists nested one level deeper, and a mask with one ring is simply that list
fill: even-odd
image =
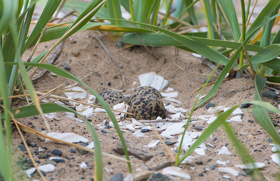
[{"label": "front speckled egg, fully in view, nearest the camera", "polygon": [[143,94],[132,101],[128,108],[129,113],[127,117],[133,117],[136,120],[152,120],[158,116],[165,118],[165,108],[160,98],[151,95]]}]

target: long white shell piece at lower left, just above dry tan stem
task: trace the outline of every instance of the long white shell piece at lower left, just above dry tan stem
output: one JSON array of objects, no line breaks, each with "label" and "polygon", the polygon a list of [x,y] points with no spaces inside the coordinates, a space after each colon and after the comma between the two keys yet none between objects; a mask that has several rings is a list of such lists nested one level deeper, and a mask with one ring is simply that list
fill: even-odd
[{"label": "long white shell piece at lower left, just above dry tan stem", "polygon": [[[87,138],[84,138],[80,135],[76,135],[75,133],[56,133],[56,132],[49,132],[47,134],[50,137],[56,138],[56,139],[61,139],[63,141],[67,141],[69,143],[78,143],[80,141],[86,143],[88,142]],[[54,142],[48,138],[45,139],[45,143],[51,143]]]}]

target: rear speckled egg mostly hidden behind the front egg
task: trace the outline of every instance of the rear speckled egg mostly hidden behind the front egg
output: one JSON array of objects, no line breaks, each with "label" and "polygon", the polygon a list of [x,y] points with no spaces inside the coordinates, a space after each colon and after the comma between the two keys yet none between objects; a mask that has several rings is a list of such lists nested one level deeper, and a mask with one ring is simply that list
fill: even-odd
[{"label": "rear speckled egg mostly hidden behind the front egg", "polygon": [[160,99],[162,99],[162,95],[161,93],[156,90],[155,88],[153,87],[150,87],[150,86],[143,86],[143,87],[139,87],[138,89],[134,90],[133,93],[130,95],[129,99],[128,99],[128,104],[131,104],[131,102],[139,97],[140,95],[143,95],[143,94],[151,94],[151,95],[154,95]]}]

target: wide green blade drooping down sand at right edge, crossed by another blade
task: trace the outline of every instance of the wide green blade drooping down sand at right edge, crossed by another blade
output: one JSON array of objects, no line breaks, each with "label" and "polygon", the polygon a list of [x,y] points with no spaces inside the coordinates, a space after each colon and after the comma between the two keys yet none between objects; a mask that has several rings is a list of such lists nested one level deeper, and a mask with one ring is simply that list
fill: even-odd
[{"label": "wide green blade drooping down sand at right edge, crossed by another blade", "polygon": [[[255,100],[261,101],[260,93],[265,86],[265,79],[256,75],[255,77]],[[274,107],[273,107],[274,109]],[[278,134],[273,122],[271,121],[266,109],[260,107],[259,105],[254,105],[252,108],[252,112],[256,120],[259,124],[268,132],[268,134],[275,140],[278,144],[280,144],[280,135]],[[279,114],[279,110],[277,112]]]}]

